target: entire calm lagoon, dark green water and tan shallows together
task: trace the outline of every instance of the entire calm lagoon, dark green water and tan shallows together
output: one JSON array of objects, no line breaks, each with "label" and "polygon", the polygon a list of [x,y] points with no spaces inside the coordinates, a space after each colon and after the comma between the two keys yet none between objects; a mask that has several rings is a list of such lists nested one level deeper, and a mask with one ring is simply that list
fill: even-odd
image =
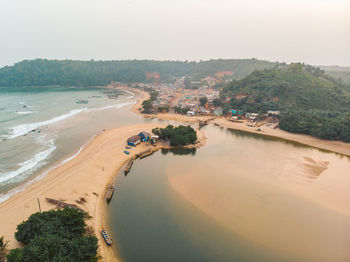
[{"label": "entire calm lagoon, dark green water and tan shallows together", "polygon": [[229,129],[117,177],[123,261],[349,261],[348,157]]}]

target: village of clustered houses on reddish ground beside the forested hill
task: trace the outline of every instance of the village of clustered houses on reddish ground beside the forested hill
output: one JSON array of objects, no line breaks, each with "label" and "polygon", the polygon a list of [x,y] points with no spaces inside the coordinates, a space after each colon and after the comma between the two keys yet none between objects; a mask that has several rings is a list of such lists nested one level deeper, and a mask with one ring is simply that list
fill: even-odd
[{"label": "village of clustered houses on reddish ground beside the forested hill", "polygon": [[[230,81],[220,77],[206,76],[199,81],[190,81],[186,77],[178,77],[173,83],[135,83],[132,87],[153,93],[149,107],[144,105],[143,113],[170,113],[187,116],[225,117],[232,122],[247,126],[272,128],[278,127],[280,112],[268,110],[260,112],[244,112],[230,106],[230,99],[220,99],[220,86]],[[189,88],[190,87],[190,88]],[[236,95],[236,99],[244,99],[247,95]]]}]

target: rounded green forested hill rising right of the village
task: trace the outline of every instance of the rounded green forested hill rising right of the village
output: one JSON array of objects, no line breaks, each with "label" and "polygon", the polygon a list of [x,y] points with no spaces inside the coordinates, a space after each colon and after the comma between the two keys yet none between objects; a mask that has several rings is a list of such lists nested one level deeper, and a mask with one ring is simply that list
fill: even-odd
[{"label": "rounded green forested hill rising right of the village", "polygon": [[245,112],[281,111],[281,129],[350,142],[349,91],[319,68],[292,64],[232,81],[220,97]]}]

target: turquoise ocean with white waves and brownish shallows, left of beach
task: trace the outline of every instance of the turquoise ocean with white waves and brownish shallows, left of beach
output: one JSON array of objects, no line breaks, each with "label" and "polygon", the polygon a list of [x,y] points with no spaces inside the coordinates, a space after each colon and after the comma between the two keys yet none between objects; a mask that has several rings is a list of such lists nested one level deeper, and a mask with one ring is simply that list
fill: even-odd
[{"label": "turquoise ocean with white waves and brownish shallows, left of beach", "polygon": [[0,202],[103,129],[133,122],[134,103],[133,93],[106,88],[0,88]]}]

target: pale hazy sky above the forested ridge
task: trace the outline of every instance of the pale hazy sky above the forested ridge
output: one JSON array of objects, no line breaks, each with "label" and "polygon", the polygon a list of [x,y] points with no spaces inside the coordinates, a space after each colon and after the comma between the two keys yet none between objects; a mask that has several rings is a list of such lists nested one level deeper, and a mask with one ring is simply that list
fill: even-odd
[{"label": "pale hazy sky above the forested ridge", "polygon": [[350,0],[0,0],[0,66],[251,57],[350,66]]}]

